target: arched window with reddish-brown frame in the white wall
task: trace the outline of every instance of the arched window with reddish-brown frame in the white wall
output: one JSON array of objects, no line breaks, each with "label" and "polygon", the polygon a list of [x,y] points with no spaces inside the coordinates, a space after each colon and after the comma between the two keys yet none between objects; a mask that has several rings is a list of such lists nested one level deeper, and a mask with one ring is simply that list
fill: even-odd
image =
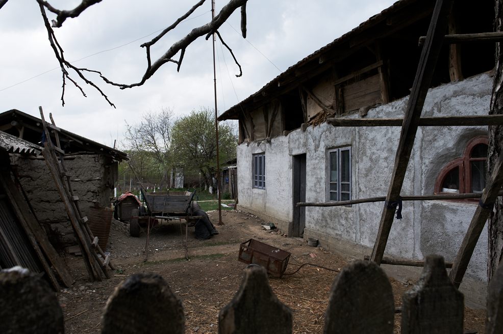
[{"label": "arched window with reddish-brown frame in the white wall", "polygon": [[463,156],[444,166],[435,193],[482,192],[486,186],[487,137],[473,138],[466,145]]}]

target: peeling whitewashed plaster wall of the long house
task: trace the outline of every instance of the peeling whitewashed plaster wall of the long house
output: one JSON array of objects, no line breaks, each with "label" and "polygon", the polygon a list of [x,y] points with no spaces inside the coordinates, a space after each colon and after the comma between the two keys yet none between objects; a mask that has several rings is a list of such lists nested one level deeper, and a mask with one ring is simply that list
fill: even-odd
[{"label": "peeling whitewashed plaster wall of the long house", "polygon": [[[487,74],[431,89],[423,116],[487,115],[492,78]],[[408,97],[369,110],[368,118],[403,117]],[[356,114],[347,117],[358,117]],[[464,150],[466,142],[487,127],[421,127],[416,136],[402,190],[404,195],[431,194],[443,165]],[[391,180],[399,127],[334,127],[326,123],[292,131],[271,143],[238,146],[239,207],[291,228],[292,155],[307,154],[307,202],[326,202],[326,156],[331,148],[351,146],[353,199],[385,196]],[[266,189],[252,188],[252,156],[265,152]],[[348,207],[307,207],[304,237],[322,245],[346,244],[368,249],[379,229],[383,203]],[[406,202],[403,219],[395,220],[386,255],[422,259],[437,253],[451,261],[466,233],[476,204],[443,201]],[[486,280],[487,231],[476,246],[467,275]],[[341,241],[341,242],[338,242]],[[448,242],[446,242],[448,241]],[[368,253],[369,254],[369,253]]]}]

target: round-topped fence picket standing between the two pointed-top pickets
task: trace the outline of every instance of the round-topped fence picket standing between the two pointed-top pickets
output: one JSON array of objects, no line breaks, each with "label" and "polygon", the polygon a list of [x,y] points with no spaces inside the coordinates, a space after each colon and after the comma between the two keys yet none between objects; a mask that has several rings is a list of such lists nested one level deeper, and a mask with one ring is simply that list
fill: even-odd
[{"label": "round-topped fence picket standing between the two pointed-top pickets", "polygon": [[375,262],[353,261],[335,277],[323,333],[392,333],[394,314],[383,269]]}]

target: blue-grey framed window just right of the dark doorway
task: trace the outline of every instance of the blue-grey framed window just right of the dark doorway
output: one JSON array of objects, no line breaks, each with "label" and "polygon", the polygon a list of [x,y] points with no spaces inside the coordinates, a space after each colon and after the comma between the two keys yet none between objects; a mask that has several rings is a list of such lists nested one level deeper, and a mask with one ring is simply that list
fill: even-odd
[{"label": "blue-grey framed window just right of the dark doorway", "polygon": [[351,147],[328,151],[327,198],[329,201],[351,199]]}]

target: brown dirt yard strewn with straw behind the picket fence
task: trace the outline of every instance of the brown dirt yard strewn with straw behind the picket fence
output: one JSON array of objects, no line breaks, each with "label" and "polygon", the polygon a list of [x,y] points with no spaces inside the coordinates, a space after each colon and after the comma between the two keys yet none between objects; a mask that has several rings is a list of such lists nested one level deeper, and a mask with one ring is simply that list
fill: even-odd
[{"label": "brown dirt yard strewn with straw behind the picket fence", "polygon": [[[65,316],[66,333],[99,333],[100,317],[114,287],[127,276],[138,272],[156,272],[164,277],[172,291],[183,301],[186,333],[217,333],[218,312],[238,290],[246,264],[239,262],[239,244],[254,238],[291,253],[286,272],[298,265],[313,263],[340,269],[349,258],[342,258],[321,247],[310,247],[300,238],[288,238],[281,231],[262,228],[265,222],[241,211],[222,211],[225,225],[217,226],[218,212],[209,212],[219,234],[209,240],[196,240],[189,228],[188,256],[185,260],[180,224],[163,224],[151,231],[148,261],[145,259],[146,232],[139,238],[129,236],[129,226],[114,220],[107,250],[117,269],[112,278],[89,282],[82,258],[67,255],[66,261],[76,283],[58,293]],[[337,272],[304,266],[282,279],[269,280],[274,293],[293,311],[294,333],[322,333],[323,317],[330,288]],[[409,280],[390,279],[395,307],[401,294],[412,288]],[[484,332],[485,311],[465,310],[465,330]],[[400,315],[395,316],[395,333],[400,332]]]}]

